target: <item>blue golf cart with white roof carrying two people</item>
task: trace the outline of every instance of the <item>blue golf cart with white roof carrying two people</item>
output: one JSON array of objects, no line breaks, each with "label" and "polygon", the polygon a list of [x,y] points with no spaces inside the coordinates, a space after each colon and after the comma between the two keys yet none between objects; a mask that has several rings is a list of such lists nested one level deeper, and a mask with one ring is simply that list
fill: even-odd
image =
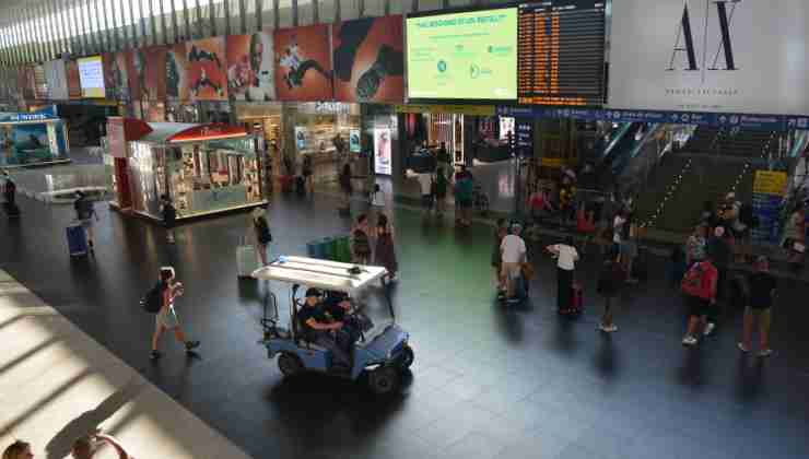
[{"label": "blue golf cart with white roof carrying two people", "polygon": [[357,266],[304,257],[280,257],[267,267],[253,273],[258,280],[279,281],[291,284],[290,323],[279,326],[278,302],[269,293],[265,302],[263,339],[260,344],[267,348],[269,358],[278,356],[278,366],[284,376],[304,372],[317,372],[331,376],[359,380],[365,378],[371,390],[378,395],[395,390],[401,374],[413,363],[414,354],[410,346],[410,334],[396,323],[392,303],[387,284],[383,282],[385,298],[390,311],[390,321],[374,325],[356,304],[352,305],[347,317],[360,325],[355,342],[350,350],[350,368],[333,368],[330,351],[319,348],[304,339],[297,325],[297,313],[303,307],[298,295],[301,289],[316,287],[328,292],[339,292],[349,296],[383,281],[387,270],[383,267]]}]

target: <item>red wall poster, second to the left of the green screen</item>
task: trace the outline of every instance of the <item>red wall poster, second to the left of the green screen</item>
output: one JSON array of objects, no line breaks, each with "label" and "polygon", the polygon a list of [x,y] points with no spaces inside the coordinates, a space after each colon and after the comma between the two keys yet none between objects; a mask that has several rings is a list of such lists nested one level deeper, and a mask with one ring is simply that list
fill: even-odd
[{"label": "red wall poster, second to the left of the green screen", "polygon": [[280,101],[330,101],[331,79],[329,26],[275,31],[275,90]]}]

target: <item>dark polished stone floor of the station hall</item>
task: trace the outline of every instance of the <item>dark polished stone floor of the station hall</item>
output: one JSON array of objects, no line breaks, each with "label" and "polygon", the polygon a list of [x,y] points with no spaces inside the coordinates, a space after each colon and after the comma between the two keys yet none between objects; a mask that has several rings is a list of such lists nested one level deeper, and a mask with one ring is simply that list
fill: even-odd
[{"label": "dark polished stone floor of the station hall", "polygon": [[[272,251],[302,254],[307,240],[345,232],[335,205],[275,200]],[[160,228],[104,210],[95,258],[71,261],[70,210],[28,200],[22,209],[19,223],[0,219],[0,268],[257,458],[809,455],[805,284],[781,285],[776,352],[765,362],[736,350],[736,307],[716,336],[683,349],[681,298],[661,260],[650,260],[647,282],[625,290],[620,331],[605,337],[595,330],[598,257],[579,269],[588,307],[579,320],[554,314],[553,266],[542,257],[530,304],[504,309],[493,301],[490,228],[460,232],[400,209],[395,304],[417,361],[401,393],[377,399],[339,380],[284,380],[267,360],[256,343],[267,285],[235,273],[245,215],[186,225],[172,247]],[[148,360],[153,317],[138,299],[163,264],[186,284],[178,314],[202,346],[187,360],[166,337],[155,365]],[[271,287],[285,307],[286,290]],[[380,305],[372,310],[385,314]]]}]

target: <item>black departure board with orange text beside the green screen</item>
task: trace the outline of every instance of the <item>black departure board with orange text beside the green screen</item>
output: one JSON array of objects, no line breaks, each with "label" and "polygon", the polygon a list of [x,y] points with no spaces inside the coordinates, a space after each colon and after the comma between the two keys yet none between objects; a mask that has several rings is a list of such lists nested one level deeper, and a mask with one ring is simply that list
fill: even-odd
[{"label": "black departure board with orange text beside the green screen", "polygon": [[520,104],[603,104],[605,4],[544,0],[519,5]]}]

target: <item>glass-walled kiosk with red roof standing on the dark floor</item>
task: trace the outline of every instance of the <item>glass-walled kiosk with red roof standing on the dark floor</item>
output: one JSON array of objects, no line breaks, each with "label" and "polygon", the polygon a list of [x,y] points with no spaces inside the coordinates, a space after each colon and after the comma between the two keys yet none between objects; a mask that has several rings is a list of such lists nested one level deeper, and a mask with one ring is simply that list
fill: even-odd
[{"label": "glass-walled kiosk with red roof standing on the dark floor", "polygon": [[116,158],[114,207],[161,220],[163,195],[174,201],[178,219],[267,202],[256,138],[243,127],[154,122],[137,128],[137,120],[114,126],[118,120],[108,128],[110,151],[124,145],[127,157]]}]

